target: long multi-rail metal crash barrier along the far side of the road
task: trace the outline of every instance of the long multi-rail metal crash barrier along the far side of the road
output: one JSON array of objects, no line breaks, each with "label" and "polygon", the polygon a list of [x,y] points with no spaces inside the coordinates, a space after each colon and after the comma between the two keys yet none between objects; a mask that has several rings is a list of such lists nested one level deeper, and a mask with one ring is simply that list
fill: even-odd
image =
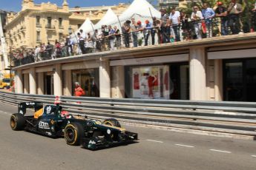
[{"label": "long multi-rail metal crash barrier along the far side of the road", "polygon": [[[13,105],[22,101],[53,103],[54,99],[53,95],[0,92],[0,101]],[[127,123],[248,135],[256,139],[256,103],[67,96],[61,96],[60,100],[71,114],[85,114],[89,118],[117,118]]]}]

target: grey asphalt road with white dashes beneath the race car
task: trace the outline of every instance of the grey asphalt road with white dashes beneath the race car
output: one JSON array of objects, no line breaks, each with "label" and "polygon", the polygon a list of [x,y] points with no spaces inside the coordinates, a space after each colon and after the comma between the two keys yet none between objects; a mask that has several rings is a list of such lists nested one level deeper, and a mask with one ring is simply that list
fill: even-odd
[{"label": "grey asphalt road with white dashes beneath the race car", "polygon": [[89,151],[10,129],[16,106],[0,103],[0,169],[255,170],[256,141],[209,137],[126,126],[140,140],[128,146]]}]

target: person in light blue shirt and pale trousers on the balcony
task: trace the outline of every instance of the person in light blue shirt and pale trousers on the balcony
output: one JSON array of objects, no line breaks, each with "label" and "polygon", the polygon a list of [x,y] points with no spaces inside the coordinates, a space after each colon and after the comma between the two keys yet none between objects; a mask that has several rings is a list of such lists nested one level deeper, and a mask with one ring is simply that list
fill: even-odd
[{"label": "person in light blue shirt and pale trousers on the balcony", "polygon": [[215,13],[211,7],[207,3],[203,3],[203,10],[202,10],[204,21],[206,22],[206,37],[212,37],[212,18],[214,18]]}]

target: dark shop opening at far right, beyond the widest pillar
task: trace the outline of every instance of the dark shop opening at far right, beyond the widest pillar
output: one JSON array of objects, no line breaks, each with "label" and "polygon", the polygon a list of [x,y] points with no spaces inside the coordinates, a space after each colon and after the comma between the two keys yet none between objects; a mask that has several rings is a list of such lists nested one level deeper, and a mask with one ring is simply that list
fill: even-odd
[{"label": "dark shop opening at far right, beyond the widest pillar", "polygon": [[256,59],[227,60],[223,64],[225,101],[256,101]]}]

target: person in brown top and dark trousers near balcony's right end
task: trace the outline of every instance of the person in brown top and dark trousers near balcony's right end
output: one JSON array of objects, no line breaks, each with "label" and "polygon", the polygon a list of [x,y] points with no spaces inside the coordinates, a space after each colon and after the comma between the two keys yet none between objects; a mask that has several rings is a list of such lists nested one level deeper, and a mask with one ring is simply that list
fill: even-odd
[{"label": "person in brown top and dark trousers near balcony's right end", "polygon": [[229,4],[227,13],[229,17],[229,27],[233,35],[240,33],[240,13],[242,12],[242,5],[238,4],[237,0],[232,0]]}]

